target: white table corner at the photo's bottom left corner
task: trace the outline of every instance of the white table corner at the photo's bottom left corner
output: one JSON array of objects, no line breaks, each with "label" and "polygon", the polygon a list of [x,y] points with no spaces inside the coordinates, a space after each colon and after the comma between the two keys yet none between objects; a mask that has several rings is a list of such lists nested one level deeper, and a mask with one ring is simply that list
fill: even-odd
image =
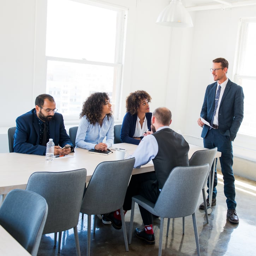
[{"label": "white table corner at the photo's bottom left corner", "polygon": [[1,225],[0,225],[0,255],[4,256],[31,256],[25,248],[20,245]]}]

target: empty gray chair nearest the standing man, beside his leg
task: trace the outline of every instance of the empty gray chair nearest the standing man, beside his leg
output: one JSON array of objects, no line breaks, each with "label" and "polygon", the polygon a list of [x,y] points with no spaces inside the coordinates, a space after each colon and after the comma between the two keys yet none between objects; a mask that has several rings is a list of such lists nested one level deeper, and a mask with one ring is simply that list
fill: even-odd
[{"label": "empty gray chair nearest the standing man, beside his leg", "polygon": [[[208,172],[209,174],[210,169],[212,168],[216,153],[217,153],[217,148],[198,150],[191,156],[189,160],[189,165],[195,166],[195,165],[205,165],[206,163],[209,163],[209,172]],[[208,174],[206,174],[206,178],[202,186],[203,188],[206,186]]]}]

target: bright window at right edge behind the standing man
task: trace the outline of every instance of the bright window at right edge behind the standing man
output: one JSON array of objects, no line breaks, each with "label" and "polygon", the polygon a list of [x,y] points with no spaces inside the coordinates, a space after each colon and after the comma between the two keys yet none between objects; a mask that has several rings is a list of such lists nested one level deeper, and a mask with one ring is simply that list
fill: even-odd
[{"label": "bright window at right edge behind the standing man", "polygon": [[256,18],[241,19],[235,82],[244,90],[244,119],[239,133],[256,136]]}]

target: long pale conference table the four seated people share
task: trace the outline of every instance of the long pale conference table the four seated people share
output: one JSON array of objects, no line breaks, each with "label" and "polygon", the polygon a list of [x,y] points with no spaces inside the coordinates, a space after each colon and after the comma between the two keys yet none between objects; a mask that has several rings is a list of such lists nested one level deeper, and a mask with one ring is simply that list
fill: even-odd
[{"label": "long pale conference table the four seated people share", "polygon": [[[192,144],[189,144],[189,146],[189,159],[195,151],[205,149]],[[137,145],[119,143],[112,146],[112,148],[115,147],[125,149],[130,155],[135,151]],[[45,156],[41,155],[0,153],[0,205],[4,194],[7,194],[12,189],[25,189],[30,175],[34,172],[61,172],[85,168],[87,169],[86,182],[89,182],[96,166],[100,162],[114,160],[116,160],[114,150],[112,154],[101,155],[88,153],[86,149],[75,148],[75,152],[64,157],[55,158],[53,161],[46,161]],[[134,168],[132,174],[151,171],[154,171],[153,163],[147,163],[141,168]]]}]

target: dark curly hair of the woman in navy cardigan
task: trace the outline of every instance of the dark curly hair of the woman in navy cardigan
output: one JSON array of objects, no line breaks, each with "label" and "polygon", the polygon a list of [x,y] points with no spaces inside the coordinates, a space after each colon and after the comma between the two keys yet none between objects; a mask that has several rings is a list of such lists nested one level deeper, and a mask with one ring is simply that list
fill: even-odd
[{"label": "dark curly hair of the woman in navy cardigan", "polygon": [[130,93],[126,98],[126,112],[130,112],[132,115],[136,114],[143,99],[147,99],[148,102],[151,101],[151,97],[146,91]]}]

